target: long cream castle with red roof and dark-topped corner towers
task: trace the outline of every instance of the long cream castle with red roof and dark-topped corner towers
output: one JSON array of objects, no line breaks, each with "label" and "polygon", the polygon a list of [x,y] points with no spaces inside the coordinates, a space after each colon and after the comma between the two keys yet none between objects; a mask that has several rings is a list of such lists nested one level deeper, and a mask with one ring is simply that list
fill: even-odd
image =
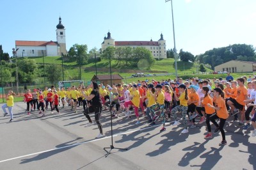
[{"label": "long cream castle with red roof and dark-topped corner towers", "polygon": [[161,33],[160,39],[157,42],[152,41],[115,41],[111,38],[111,33],[108,32],[108,36],[104,37],[104,42],[101,43],[102,51],[107,47],[145,47],[152,52],[152,55],[156,59],[166,58],[166,40]]}]

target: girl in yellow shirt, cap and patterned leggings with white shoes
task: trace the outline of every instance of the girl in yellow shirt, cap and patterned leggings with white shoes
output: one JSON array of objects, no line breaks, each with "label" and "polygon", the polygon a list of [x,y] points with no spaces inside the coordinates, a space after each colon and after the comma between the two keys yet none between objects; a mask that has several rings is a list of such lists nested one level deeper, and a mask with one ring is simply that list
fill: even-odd
[{"label": "girl in yellow shirt, cap and patterned leggings with white shoes", "polygon": [[186,120],[186,114],[188,111],[188,90],[184,84],[179,85],[179,92],[180,92],[179,98],[177,97],[176,93],[174,93],[175,99],[176,101],[180,101],[180,105],[177,105],[172,109],[172,115],[175,120],[175,122],[173,123],[173,126],[180,124],[179,120],[177,120],[177,114],[176,114],[176,112],[180,111],[182,113],[182,120],[184,125],[184,130],[182,130],[181,133],[186,134],[188,133],[188,124]]}]

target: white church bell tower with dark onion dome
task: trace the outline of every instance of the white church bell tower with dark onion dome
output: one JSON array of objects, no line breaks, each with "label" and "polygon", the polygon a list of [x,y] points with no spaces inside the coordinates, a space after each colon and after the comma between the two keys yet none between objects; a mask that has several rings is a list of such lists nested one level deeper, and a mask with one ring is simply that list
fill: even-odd
[{"label": "white church bell tower with dark onion dome", "polygon": [[[58,56],[61,56],[61,53],[64,55],[67,54],[66,49],[66,33],[65,27],[61,24],[61,17],[59,18],[59,24],[56,26],[56,36],[58,42]],[[60,47],[60,50],[59,50]]]}]

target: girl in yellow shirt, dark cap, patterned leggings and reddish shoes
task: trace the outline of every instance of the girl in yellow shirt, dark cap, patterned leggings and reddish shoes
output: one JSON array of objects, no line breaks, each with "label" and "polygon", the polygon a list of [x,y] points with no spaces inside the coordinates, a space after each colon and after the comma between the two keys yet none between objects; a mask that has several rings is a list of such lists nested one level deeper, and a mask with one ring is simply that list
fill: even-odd
[{"label": "girl in yellow shirt, dark cap, patterned leggings and reddish shoes", "polygon": [[164,93],[162,91],[163,86],[161,84],[156,85],[156,93],[152,94],[155,97],[156,103],[155,105],[152,105],[149,107],[150,112],[154,115],[153,116],[153,122],[150,123],[150,125],[155,125],[155,121],[159,116],[156,115],[155,110],[159,109],[161,112],[161,118],[162,118],[162,124],[163,128],[161,128],[160,132],[163,132],[166,130],[165,128],[165,116],[164,116]]}]

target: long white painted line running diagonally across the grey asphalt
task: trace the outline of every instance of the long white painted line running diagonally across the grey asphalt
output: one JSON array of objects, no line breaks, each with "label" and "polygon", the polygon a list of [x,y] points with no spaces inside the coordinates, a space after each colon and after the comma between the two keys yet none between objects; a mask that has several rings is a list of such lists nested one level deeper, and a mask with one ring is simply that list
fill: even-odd
[{"label": "long white painted line running diagonally across the grey asphalt", "polygon": [[[170,123],[169,123],[170,124]],[[166,123],[167,125],[167,123]],[[140,128],[140,129],[137,129],[137,130],[131,130],[129,132],[120,132],[118,134],[115,134],[113,135],[113,137],[116,137],[118,135],[124,135],[124,134],[131,134],[133,132],[137,132],[137,131],[142,131],[142,130],[146,130],[148,128],[153,128],[153,127],[159,127],[161,125],[155,125],[155,126],[152,126],[152,127],[145,127],[145,128]],[[18,159],[18,158],[24,158],[24,157],[29,157],[29,156],[32,156],[32,155],[38,155],[40,153],[45,153],[45,152],[48,152],[48,151],[54,151],[54,150],[61,150],[63,148],[68,148],[68,147],[72,147],[72,146],[77,146],[77,145],[80,145],[80,144],[86,144],[86,143],[93,143],[95,141],[100,141],[100,140],[103,140],[103,139],[108,139],[110,136],[106,136],[106,137],[103,137],[103,138],[100,138],[100,139],[92,139],[90,141],[84,141],[82,143],[75,143],[75,144],[71,144],[71,145],[68,145],[68,146],[63,146],[63,147],[60,147],[60,148],[54,148],[54,149],[51,149],[51,150],[45,150],[45,151],[39,151],[39,152],[36,152],[36,153],[31,153],[31,154],[28,154],[28,155],[22,155],[22,156],[19,156],[19,157],[14,157],[14,158],[8,158],[8,159],[5,159],[5,160],[1,160],[0,163],[3,163],[3,162],[7,162],[7,161],[10,161],[10,160],[15,160],[15,159]]]}]

